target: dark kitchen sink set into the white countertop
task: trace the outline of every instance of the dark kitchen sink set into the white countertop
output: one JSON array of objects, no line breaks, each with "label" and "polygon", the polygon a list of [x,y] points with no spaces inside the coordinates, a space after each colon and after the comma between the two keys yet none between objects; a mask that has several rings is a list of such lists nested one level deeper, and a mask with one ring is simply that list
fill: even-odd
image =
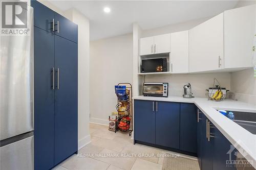
[{"label": "dark kitchen sink set into the white countertop", "polygon": [[[227,114],[230,111],[227,111]],[[239,126],[243,127],[250,133],[256,135],[256,113],[251,112],[240,112],[240,111],[231,111],[233,112],[234,119],[233,122],[237,123]]]}]

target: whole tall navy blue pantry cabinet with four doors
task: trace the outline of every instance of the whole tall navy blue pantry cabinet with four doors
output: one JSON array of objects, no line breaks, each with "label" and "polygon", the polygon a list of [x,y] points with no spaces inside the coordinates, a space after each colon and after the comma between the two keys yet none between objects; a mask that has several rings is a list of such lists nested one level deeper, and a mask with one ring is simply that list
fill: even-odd
[{"label": "whole tall navy blue pantry cabinet with four doors", "polygon": [[77,25],[34,8],[34,167],[51,169],[77,152]]}]

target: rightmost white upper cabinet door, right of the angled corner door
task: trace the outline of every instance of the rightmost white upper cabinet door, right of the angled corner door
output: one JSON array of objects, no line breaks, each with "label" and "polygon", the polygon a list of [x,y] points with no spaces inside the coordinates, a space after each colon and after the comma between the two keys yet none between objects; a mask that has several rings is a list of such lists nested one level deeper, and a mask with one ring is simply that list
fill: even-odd
[{"label": "rightmost white upper cabinet door, right of the angled corner door", "polygon": [[224,12],[225,68],[252,67],[256,5]]}]

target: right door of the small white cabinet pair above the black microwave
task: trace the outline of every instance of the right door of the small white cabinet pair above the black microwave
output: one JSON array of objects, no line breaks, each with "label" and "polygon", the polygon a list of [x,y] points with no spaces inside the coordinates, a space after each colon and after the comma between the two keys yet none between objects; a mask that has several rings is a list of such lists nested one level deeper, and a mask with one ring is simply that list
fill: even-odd
[{"label": "right door of the small white cabinet pair above the black microwave", "polygon": [[154,37],[154,53],[170,52],[170,34],[163,34]]}]

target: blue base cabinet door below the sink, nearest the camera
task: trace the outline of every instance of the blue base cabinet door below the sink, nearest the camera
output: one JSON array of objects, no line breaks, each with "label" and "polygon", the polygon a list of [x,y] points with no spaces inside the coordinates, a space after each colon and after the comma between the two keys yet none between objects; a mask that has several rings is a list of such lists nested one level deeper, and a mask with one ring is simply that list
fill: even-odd
[{"label": "blue base cabinet door below the sink, nearest the camera", "polygon": [[228,139],[217,129],[215,128],[214,132],[214,159],[213,159],[213,169],[227,169],[227,170],[236,170],[237,168],[232,164],[226,164],[227,160],[236,160],[234,153],[237,152],[237,149],[228,141]]}]

